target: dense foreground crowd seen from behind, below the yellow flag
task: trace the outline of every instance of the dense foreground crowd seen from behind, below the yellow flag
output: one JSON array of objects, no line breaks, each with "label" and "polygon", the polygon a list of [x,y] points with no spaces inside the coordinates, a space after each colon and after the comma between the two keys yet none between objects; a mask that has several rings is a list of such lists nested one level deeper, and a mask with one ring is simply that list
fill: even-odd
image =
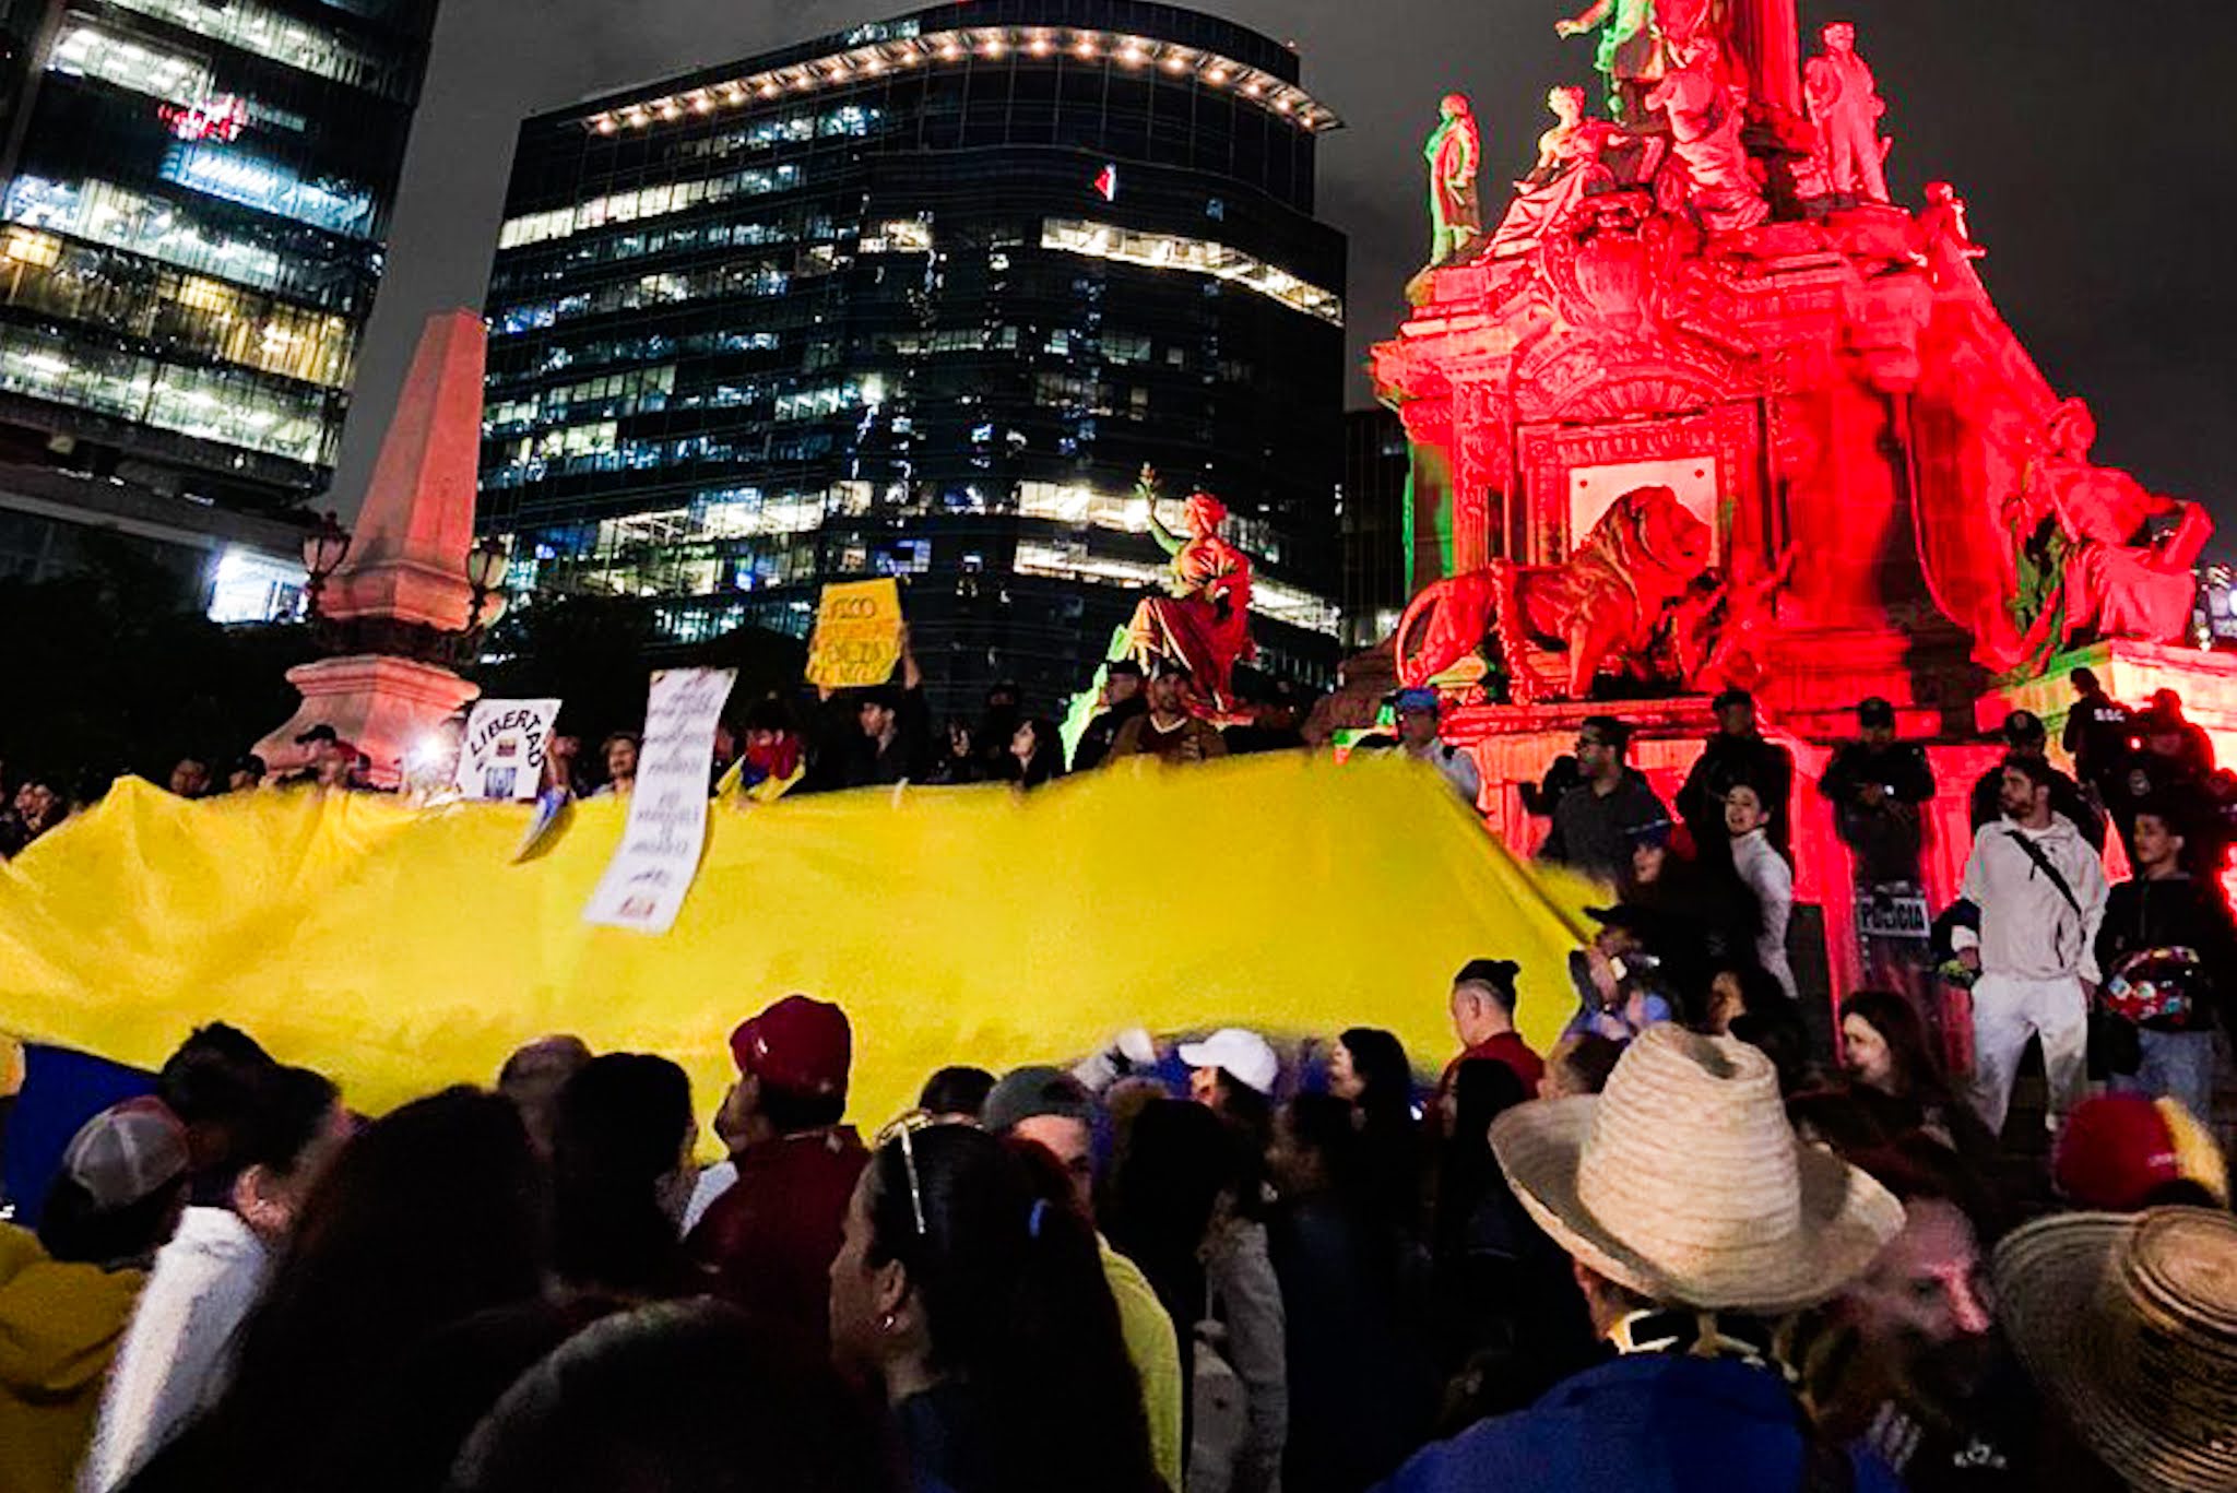
[{"label": "dense foreground crowd seen from behind, below the yellow flag", "polygon": [[2089,1097],[2018,1180],[1904,996],[1832,1065],[1761,969],[1696,1010],[1582,960],[1626,1001],[1544,1054],[1483,958],[1412,996],[1436,1077],[1134,1030],[868,1142],[846,1012],[787,996],[705,1171],[667,1057],[541,1039],[367,1121],[213,1023],[0,1224],[0,1486],[2230,1486],[2190,1110]]}]

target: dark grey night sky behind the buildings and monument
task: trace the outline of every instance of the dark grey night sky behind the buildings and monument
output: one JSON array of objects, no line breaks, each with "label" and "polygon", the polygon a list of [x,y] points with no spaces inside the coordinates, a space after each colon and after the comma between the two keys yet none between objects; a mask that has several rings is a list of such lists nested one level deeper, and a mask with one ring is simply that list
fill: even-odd
[{"label": "dark grey night sky behind the buildings and monument", "polygon": [[[1347,123],[1320,145],[1320,215],[1351,235],[1353,360],[1389,336],[1427,255],[1420,141],[1436,98],[1483,123],[1485,217],[1546,128],[1555,83],[1591,83],[1582,0],[1201,0],[1304,54]],[[389,275],[360,360],[333,501],[356,508],[421,320],[481,307],[523,114],[633,81],[906,13],[908,0],[443,0]],[[535,20],[530,20],[535,18]],[[1948,179],[1989,248],[1982,278],[2063,394],[2092,401],[2098,459],[2197,497],[2237,551],[2237,25],[2226,4],[1803,0],[1848,18],[1888,101],[1899,201]],[[1599,96],[1595,87],[1595,98]],[[1369,403],[1353,374],[1349,403]]]}]

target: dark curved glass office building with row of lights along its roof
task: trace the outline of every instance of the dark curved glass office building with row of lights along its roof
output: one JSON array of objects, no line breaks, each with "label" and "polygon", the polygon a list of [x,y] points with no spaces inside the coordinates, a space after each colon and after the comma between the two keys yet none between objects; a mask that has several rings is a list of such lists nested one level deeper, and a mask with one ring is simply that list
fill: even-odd
[{"label": "dark curved glass office building with row of lights along its roof", "polygon": [[[1262,667],[1338,656],[1344,242],[1293,51],[980,0],[530,119],[490,284],[481,524],[512,584],[805,633],[895,575],[935,703],[1085,683],[1230,508]],[[1163,506],[1179,526],[1179,501]]]}]

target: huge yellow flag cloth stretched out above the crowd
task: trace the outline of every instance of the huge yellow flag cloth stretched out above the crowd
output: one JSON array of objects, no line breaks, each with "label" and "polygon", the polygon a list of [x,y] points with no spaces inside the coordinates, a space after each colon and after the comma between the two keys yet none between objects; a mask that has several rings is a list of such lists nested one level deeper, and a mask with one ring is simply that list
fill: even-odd
[{"label": "huge yellow flag cloth stretched out above the crowd", "polygon": [[1029,797],[709,813],[682,918],[653,938],[582,920],[617,801],[570,808],[510,864],[530,806],[188,804],[125,779],[0,864],[0,1030],[154,1065],[224,1018],[367,1112],[577,1032],[678,1059],[707,1110],[731,1025],[805,992],[852,1018],[852,1115],[879,1121],[942,1063],[1065,1061],[1127,1025],[1380,1025],[1434,1068],[1452,971],[1479,956],[1523,965],[1537,1045],[1575,1005],[1588,891],[1517,864],[1405,761],[1145,759]]}]

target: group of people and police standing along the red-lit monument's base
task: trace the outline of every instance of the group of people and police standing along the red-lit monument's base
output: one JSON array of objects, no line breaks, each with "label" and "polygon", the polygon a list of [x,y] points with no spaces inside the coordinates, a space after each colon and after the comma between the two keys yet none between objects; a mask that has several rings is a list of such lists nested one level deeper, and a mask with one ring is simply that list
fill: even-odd
[{"label": "group of people and police standing along the red-lit monument's base", "polygon": [[[2089,669],[2071,683],[2080,781],[2051,766],[2042,721],[2011,712],[2004,757],[1969,786],[1973,844],[1944,909],[1928,904],[1919,864],[1935,774],[1897,736],[1888,701],[1859,705],[1859,736],[1816,786],[1850,857],[1863,980],[1906,996],[1991,1133],[2004,1130],[2029,1043],[2054,1124],[2092,1077],[2210,1117],[2224,1034],[2237,1030],[2221,884],[2237,779],[2215,770],[2172,694],[2127,712]],[[1716,734],[1676,815],[1626,763],[1626,725],[1586,719],[1575,757],[1539,790],[1552,821],[1539,855],[1617,889],[1577,967],[1597,1030],[1635,1036],[1669,1014],[1725,1030],[1745,1016],[1790,1027],[1792,1043],[1794,757],[1763,736],[1745,692],[1714,705]],[[2132,871],[2118,886],[2107,828]]]}]

